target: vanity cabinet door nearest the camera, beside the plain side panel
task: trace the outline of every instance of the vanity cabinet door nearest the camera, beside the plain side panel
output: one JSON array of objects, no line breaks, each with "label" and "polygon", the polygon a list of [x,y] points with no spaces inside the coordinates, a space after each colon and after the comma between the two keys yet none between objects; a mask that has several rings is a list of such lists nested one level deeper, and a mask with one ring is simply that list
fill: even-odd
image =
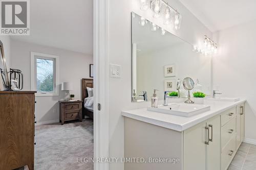
[{"label": "vanity cabinet door nearest the camera, beside the plain side panel", "polygon": [[206,122],[183,132],[183,170],[206,169]]}]

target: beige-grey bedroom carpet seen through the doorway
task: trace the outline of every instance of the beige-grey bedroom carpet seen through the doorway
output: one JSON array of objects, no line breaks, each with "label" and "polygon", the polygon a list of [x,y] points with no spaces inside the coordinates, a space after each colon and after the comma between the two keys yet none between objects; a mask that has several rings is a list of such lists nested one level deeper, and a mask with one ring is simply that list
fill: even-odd
[{"label": "beige-grey bedroom carpet seen through the doorway", "polygon": [[77,158],[93,157],[93,120],[35,127],[35,169],[93,170],[93,163]]}]

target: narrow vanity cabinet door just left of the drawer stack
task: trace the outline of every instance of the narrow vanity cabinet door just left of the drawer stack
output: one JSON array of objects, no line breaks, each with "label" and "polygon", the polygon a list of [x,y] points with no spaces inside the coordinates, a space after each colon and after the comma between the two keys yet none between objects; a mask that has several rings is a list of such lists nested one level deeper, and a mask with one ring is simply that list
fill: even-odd
[{"label": "narrow vanity cabinet door just left of the drawer stack", "polygon": [[208,120],[209,145],[207,145],[208,170],[221,168],[221,118],[217,115]]}]

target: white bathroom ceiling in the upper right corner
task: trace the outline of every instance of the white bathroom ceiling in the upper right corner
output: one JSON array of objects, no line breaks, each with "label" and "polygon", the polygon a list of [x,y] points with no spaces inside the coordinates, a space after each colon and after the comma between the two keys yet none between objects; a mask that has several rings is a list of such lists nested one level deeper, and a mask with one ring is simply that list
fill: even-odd
[{"label": "white bathroom ceiling in the upper right corner", "polygon": [[180,0],[211,32],[256,19],[255,0]]}]

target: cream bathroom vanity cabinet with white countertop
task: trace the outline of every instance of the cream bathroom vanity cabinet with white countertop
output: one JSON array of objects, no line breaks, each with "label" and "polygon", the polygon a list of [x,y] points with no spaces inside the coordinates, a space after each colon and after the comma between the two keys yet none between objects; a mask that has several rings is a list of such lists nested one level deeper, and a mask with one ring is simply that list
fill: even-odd
[{"label": "cream bathroom vanity cabinet with white countertop", "polygon": [[210,110],[191,117],[123,111],[125,157],[180,160],[125,163],[124,169],[226,170],[244,140],[244,103],[205,100]]}]

